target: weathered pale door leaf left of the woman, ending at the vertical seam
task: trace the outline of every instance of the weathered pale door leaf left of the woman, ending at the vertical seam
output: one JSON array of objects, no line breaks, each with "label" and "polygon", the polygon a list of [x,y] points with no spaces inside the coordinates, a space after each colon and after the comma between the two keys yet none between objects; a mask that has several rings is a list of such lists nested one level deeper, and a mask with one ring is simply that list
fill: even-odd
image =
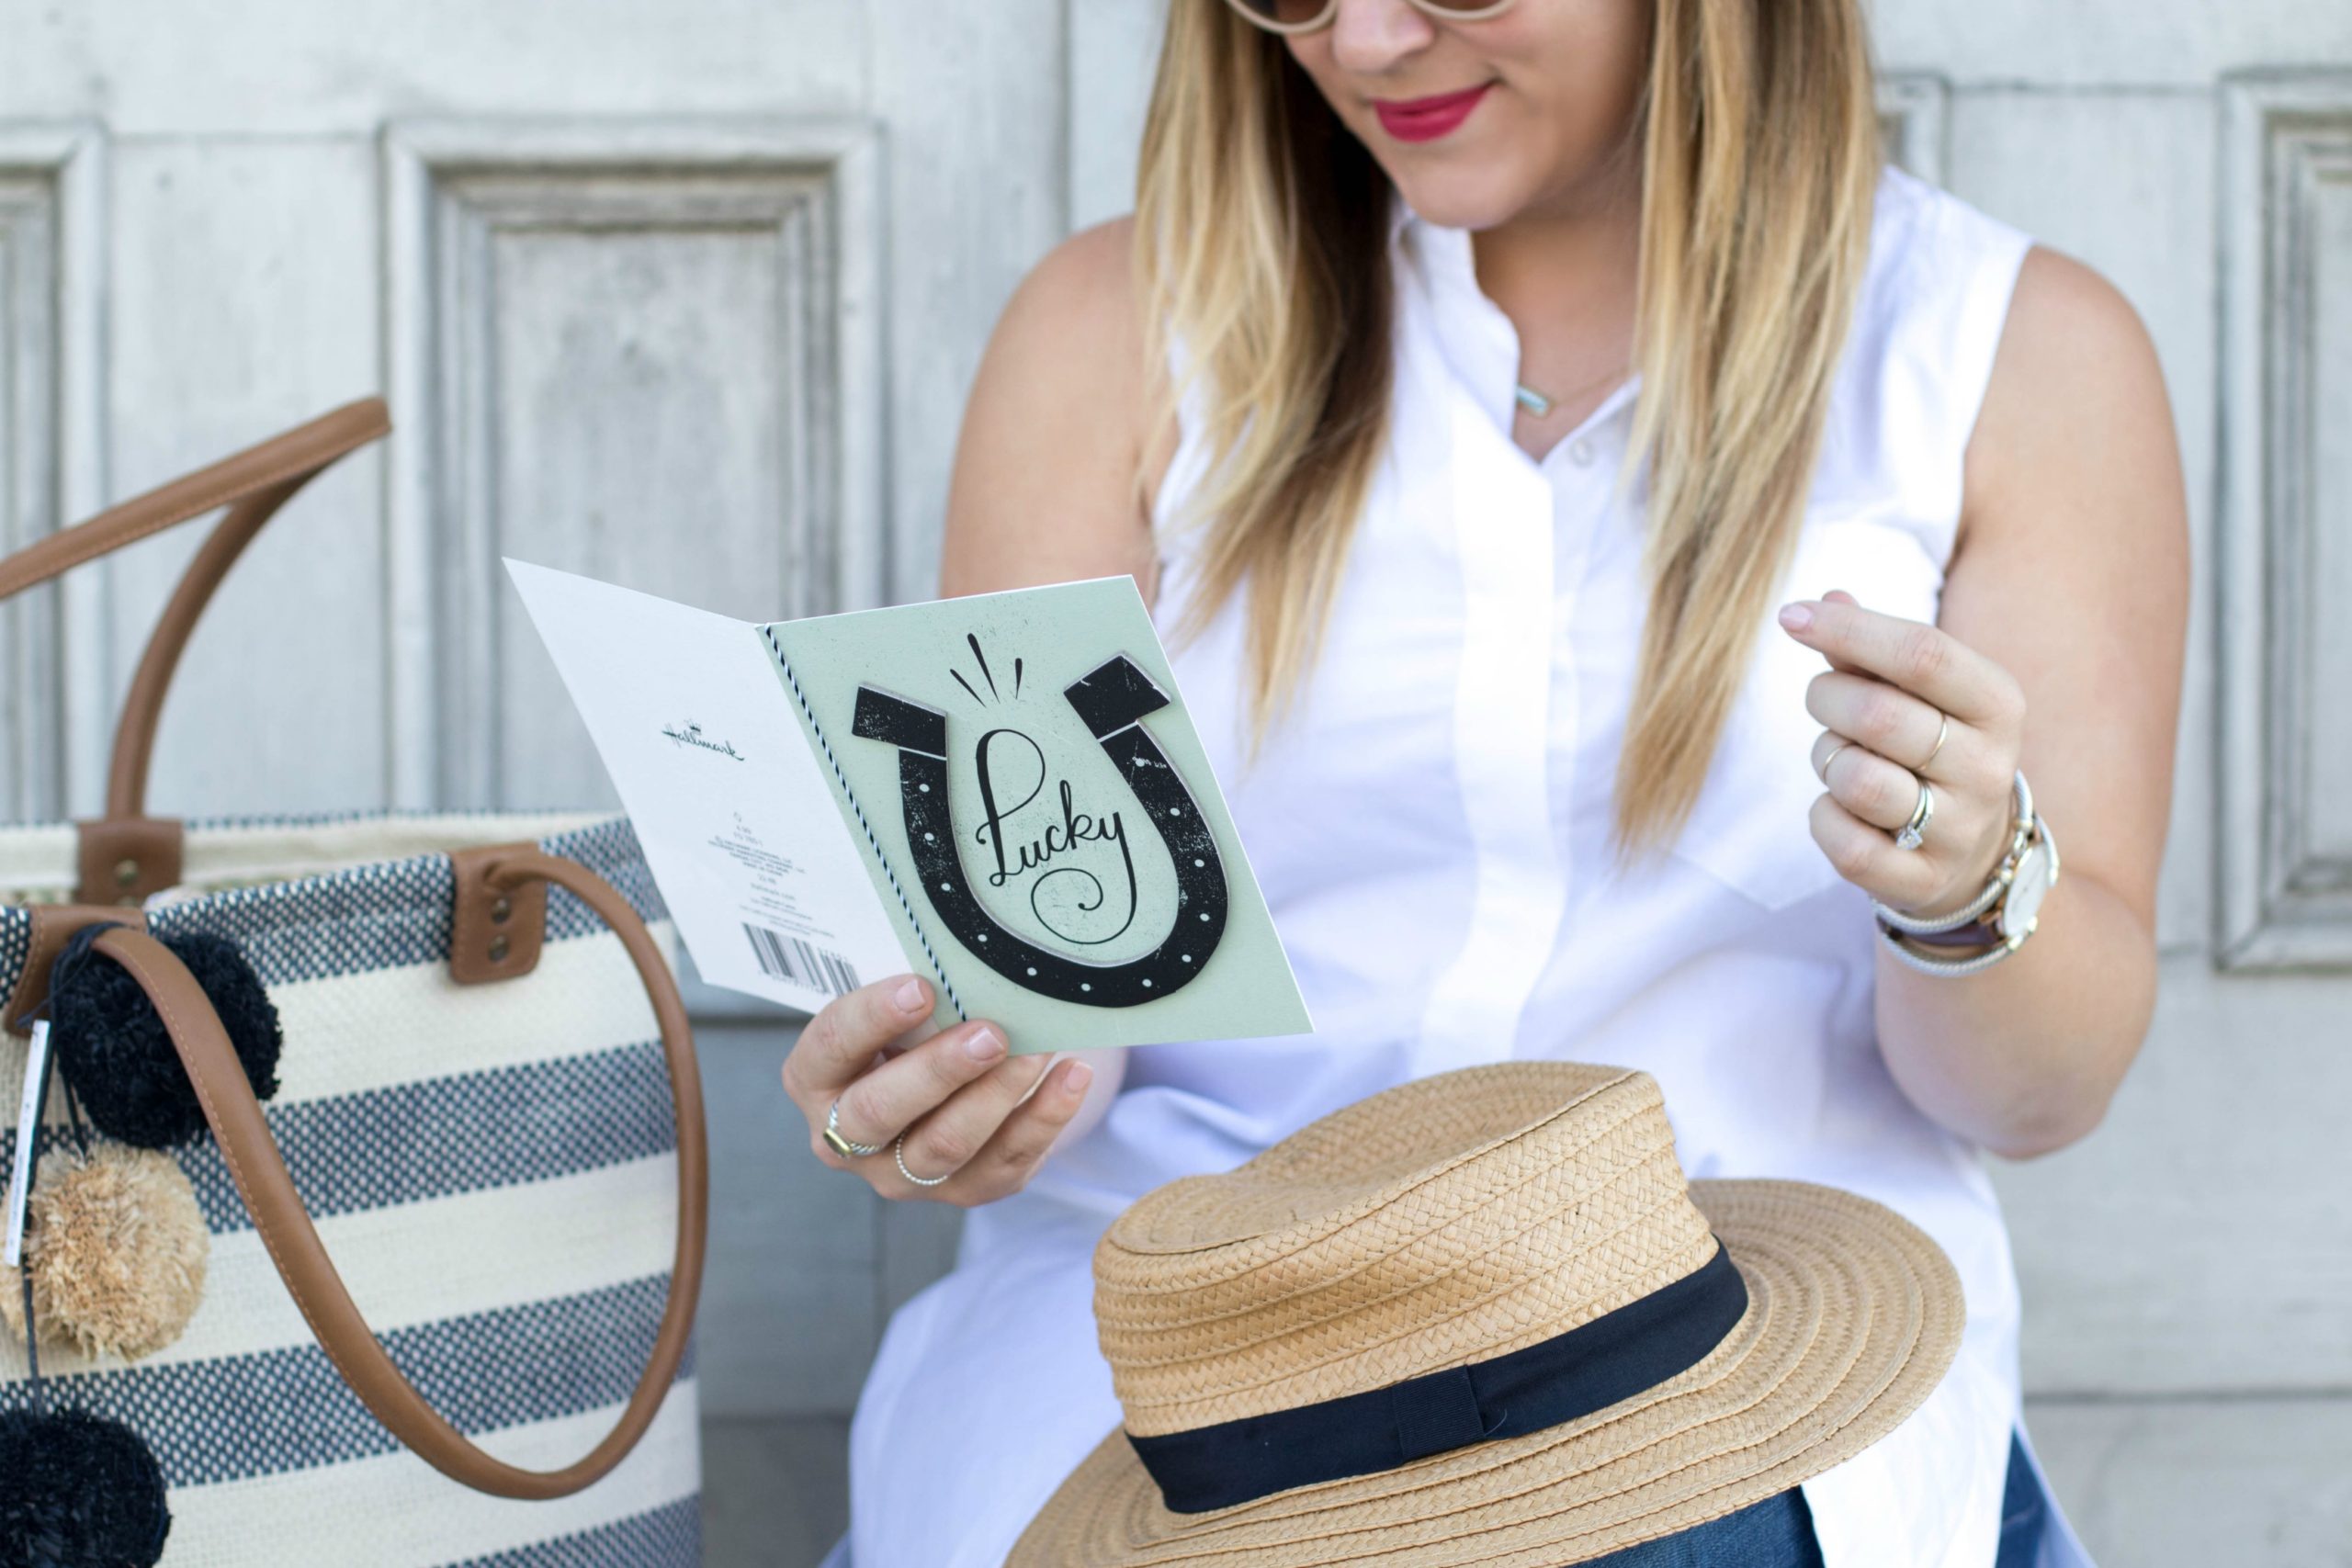
[{"label": "weathered pale door leaf left of the woman, ending at the vertical seam", "polygon": [[[1068,9],[0,0],[0,543],[393,402],[214,604],[155,809],[609,804],[501,552],[757,618],[927,595],[981,346],[1070,228]],[[0,816],[99,806],[193,543],[0,611]],[[814,1561],[953,1229],[816,1166],[788,1030],[727,1013],[710,1556]]]}]

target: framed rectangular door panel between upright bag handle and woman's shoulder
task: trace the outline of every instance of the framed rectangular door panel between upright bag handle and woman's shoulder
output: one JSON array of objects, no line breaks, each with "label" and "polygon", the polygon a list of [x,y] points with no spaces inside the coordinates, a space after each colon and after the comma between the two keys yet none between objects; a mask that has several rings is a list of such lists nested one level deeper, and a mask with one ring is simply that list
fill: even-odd
[{"label": "framed rectangular door panel between upright bag handle and woman's shoulder", "polygon": [[395,799],[607,799],[499,555],[877,602],[873,127],[419,122],[383,172]]}]

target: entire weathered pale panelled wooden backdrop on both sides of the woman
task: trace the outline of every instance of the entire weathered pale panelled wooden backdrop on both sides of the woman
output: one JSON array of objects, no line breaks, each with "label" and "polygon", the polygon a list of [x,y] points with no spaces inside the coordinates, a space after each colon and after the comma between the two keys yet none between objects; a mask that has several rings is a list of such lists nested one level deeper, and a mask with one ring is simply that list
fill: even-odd
[{"label": "entire weathered pale panelled wooden backdrop on both sides of the woman", "polygon": [[[501,552],[741,616],[929,592],[978,350],[1129,205],[1162,5],[0,0],[0,541],[397,421],[221,595],[155,809],[607,802]],[[2194,512],[2154,1034],[1997,1173],[2030,1418],[2103,1561],[2347,1563],[2352,5],[1872,19],[1905,162],[2147,317]],[[7,816],[96,806],[191,543],[0,611]],[[809,1561],[955,1215],[809,1161],[788,1027],[706,1013],[713,1561]]]}]

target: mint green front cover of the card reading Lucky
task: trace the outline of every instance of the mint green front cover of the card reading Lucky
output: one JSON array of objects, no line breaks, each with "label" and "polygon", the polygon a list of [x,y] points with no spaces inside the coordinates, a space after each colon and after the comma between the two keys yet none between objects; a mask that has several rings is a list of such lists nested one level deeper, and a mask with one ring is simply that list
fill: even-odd
[{"label": "mint green front cover of the card reading Lucky", "polygon": [[1312,1030],[1134,578],[760,632],[941,1023],[1016,1053]]}]

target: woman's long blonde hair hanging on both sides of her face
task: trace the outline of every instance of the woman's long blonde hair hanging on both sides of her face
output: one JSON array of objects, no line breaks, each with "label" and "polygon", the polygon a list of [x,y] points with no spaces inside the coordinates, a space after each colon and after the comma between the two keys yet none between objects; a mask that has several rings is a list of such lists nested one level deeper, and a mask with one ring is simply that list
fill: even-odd
[{"label": "woman's long blonde hair hanging on both sides of her face", "polygon": [[[1858,0],[1656,0],[1639,101],[1628,475],[1649,463],[1649,618],[1613,842],[1679,835],[1788,569],[1870,252],[1884,158]],[[1279,38],[1171,0],[1134,266],[1162,430],[1195,393],[1200,635],[1247,590],[1251,755],[1315,663],[1388,440],[1392,186]]]}]

